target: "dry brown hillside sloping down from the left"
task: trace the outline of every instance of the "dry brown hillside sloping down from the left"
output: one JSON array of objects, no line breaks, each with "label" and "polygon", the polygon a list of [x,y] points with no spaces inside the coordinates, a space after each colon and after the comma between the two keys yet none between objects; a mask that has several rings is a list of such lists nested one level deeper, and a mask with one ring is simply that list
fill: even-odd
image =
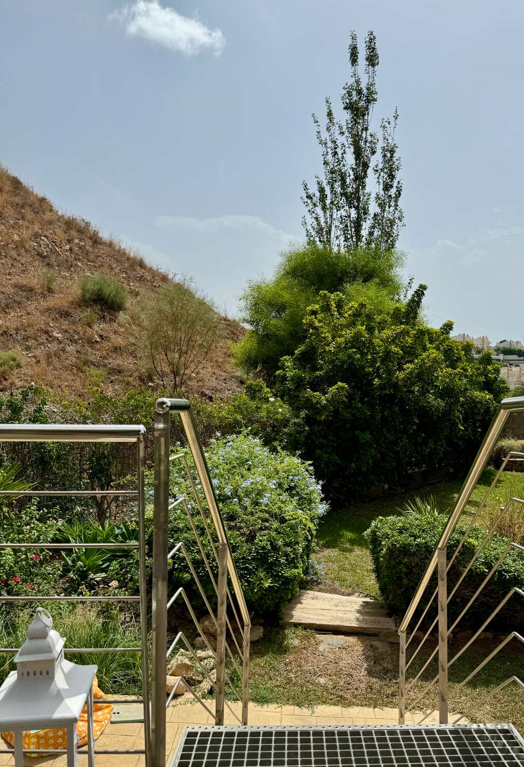
[{"label": "dry brown hillside sloping down from the left", "polygon": [[[111,275],[124,283],[132,303],[167,275],[102,237],[90,222],[58,212],[2,167],[0,264],[0,352],[14,350],[21,360],[21,367],[0,377],[0,390],[35,381],[75,397],[94,385],[106,393],[157,386],[140,370],[125,318],[83,304],[78,283],[81,275]],[[229,344],[242,336],[242,327],[227,318],[222,327],[220,347],[191,381],[193,393],[227,396],[239,389]]]}]

